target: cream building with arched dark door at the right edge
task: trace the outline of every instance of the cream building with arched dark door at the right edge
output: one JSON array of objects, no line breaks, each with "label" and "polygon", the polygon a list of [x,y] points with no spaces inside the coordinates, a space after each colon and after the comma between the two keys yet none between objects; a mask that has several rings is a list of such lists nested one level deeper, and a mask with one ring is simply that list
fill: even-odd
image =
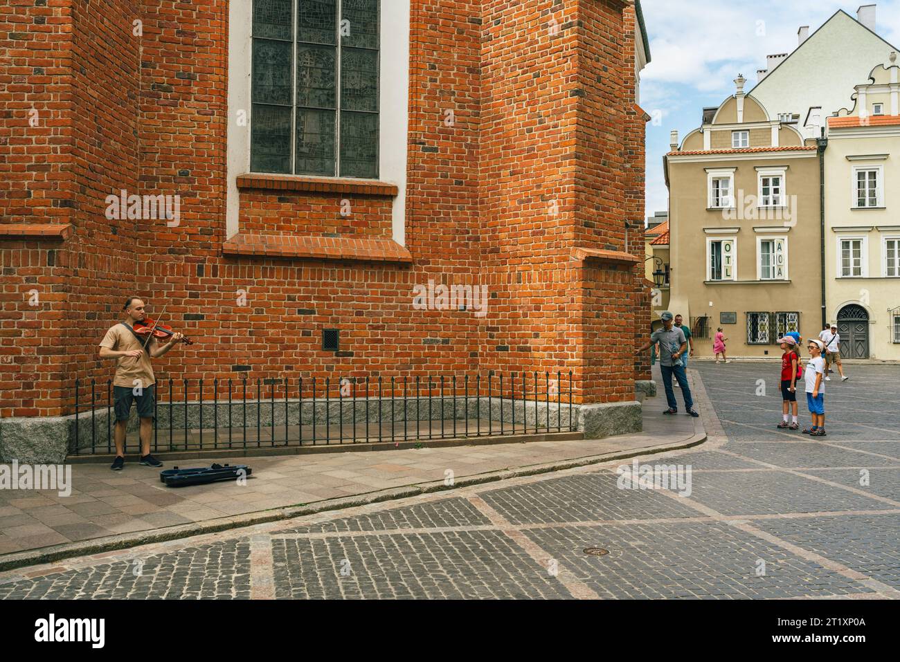
[{"label": "cream building with arched dark door at the right edge", "polygon": [[828,118],[825,293],[842,354],[900,360],[900,67],[896,53]]}]

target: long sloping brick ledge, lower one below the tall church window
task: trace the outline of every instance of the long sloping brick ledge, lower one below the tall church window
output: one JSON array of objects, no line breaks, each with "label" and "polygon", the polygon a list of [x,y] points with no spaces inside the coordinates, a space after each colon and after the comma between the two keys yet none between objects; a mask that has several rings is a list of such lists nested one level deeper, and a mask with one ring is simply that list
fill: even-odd
[{"label": "long sloping brick ledge, lower one below the tall church window", "polygon": [[223,255],[313,260],[412,263],[410,251],[388,238],[310,237],[238,234],[222,246]]}]

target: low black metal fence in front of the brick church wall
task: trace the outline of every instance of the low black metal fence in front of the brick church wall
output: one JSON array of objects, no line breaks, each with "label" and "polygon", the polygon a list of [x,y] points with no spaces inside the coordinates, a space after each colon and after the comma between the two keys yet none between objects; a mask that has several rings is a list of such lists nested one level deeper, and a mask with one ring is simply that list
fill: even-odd
[{"label": "low black metal fence in front of the brick church wall", "polygon": [[[571,371],[492,372],[485,378],[168,379],[155,385],[151,450],[560,433],[575,429],[572,412]],[[69,453],[113,452],[114,418],[112,381],[76,380]],[[137,451],[138,444],[132,410],[125,452]]]}]

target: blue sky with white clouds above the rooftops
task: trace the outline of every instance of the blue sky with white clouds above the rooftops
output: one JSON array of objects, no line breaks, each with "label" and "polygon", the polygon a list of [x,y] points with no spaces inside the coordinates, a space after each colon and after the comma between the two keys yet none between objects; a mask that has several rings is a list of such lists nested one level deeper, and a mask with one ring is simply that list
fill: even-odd
[{"label": "blue sky with white clouds above the rooftops", "polygon": [[[839,9],[856,16],[860,2],[837,0],[642,0],[653,61],[641,76],[647,123],[647,215],[668,207],[662,155],[669,134],[683,139],[700,125],[704,106],[734,94],[734,78],[756,84],[770,53],[797,47],[797,29],[814,32]],[[872,4],[872,3],[865,3]],[[878,34],[900,47],[900,0],[877,0]],[[860,81],[862,82],[862,81]]]}]

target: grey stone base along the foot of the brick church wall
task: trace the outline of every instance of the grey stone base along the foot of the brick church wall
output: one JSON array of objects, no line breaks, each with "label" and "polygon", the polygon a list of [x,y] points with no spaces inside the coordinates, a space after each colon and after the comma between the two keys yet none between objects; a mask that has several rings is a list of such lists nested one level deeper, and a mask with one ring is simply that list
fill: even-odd
[{"label": "grey stone base along the foot of the brick church wall", "polygon": [[[405,403],[405,407],[404,407]],[[443,409],[442,409],[443,404]],[[430,407],[429,407],[430,406]],[[106,452],[112,444],[114,414],[107,407],[96,408],[92,412],[77,415],[40,418],[4,418],[0,420],[0,461],[17,460],[22,463],[61,463],[67,454],[91,452],[92,445]],[[342,401],[317,398],[315,400],[296,398],[283,400],[243,400],[232,401],[188,401],[157,404],[157,434],[160,440],[167,439],[169,426],[175,431],[196,431],[202,427],[212,439],[213,428],[220,431],[256,431],[271,429],[284,432],[285,425],[352,425],[383,424],[390,421],[441,421],[489,419],[500,430],[500,422],[511,427],[515,421],[517,434],[523,423],[529,430],[537,428],[538,434],[576,430],[586,439],[600,439],[614,434],[639,432],[641,404],[639,402],[617,402],[597,405],[572,405],[556,402],[512,400],[507,398],[344,398]],[[201,421],[202,417],[202,421]],[[201,426],[202,422],[202,426]],[[230,425],[230,428],[229,428]],[[571,426],[570,426],[571,425]],[[134,443],[139,421],[137,411],[132,408],[128,423],[130,445]],[[464,436],[460,428],[456,436]]]}]

